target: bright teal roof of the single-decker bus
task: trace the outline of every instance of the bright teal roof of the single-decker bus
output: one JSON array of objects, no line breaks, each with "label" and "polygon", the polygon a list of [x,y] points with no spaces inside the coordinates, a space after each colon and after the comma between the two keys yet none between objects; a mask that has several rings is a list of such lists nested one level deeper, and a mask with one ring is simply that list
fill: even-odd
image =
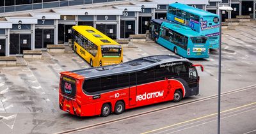
[{"label": "bright teal roof of the single-decker bus", "polygon": [[166,27],[168,29],[172,29],[173,31],[180,33],[187,37],[198,37],[198,36],[204,36],[196,31],[193,31],[191,28],[182,26],[180,24],[175,23],[169,23],[169,22],[163,22],[163,27]]}]

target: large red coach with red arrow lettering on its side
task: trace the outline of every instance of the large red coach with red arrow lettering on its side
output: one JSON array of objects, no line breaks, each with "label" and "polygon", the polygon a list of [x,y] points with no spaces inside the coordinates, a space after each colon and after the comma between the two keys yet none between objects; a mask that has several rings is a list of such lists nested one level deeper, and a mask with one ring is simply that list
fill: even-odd
[{"label": "large red coach with red arrow lettering on its side", "polygon": [[199,93],[199,77],[188,59],[149,56],[122,64],[61,72],[60,109],[77,116],[108,116]]}]

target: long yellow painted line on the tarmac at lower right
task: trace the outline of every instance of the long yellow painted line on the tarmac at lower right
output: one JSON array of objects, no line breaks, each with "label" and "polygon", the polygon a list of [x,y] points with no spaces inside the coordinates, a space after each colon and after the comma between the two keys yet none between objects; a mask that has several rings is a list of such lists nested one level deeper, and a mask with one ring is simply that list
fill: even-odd
[{"label": "long yellow painted line on the tarmac at lower right", "polygon": [[[224,111],[221,111],[220,113],[229,112],[229,111],[232,111],[232,110],[236,110],[236,109],[243,108],[243,107],[248,107],[248,106],[250,106],[250,105],[255,105],[255,104],[256,104],[256,102],[253,102],[253,103],[250,103],[250,104],[247,104],[247,105],[243,105],[243,106],[240,106],[240,107],[235,107],[235,108],[231,108],[231,109],[228,109],[228,110],[224,110]],[[156,129],[156,130],[146,131],[146,132],[141,133],[141,134],[152,133],[152,132],[154,132],[154,131],[159,131],[159,130],[163,130],[163,129],[165,129],[165,128],[170,128],[170,127],[177,126],[177,125],[180,125],[180,124],[189,123],[189,122],[191,122],[191,121],[196,121],[196,120],[199,120],[199,119],[204,119],[204,118],[206,118],[206,117],[211,117],[211,116],[217,115],[217,114],[218,114],[218,113],[205,115],[205,116],[198,117],[198,118],[195,118],[195,119],[191,119],[191,120],[188,120],[188,121],[184,121],[184,122],[181,122],[181,123],[172,124],[172,125],[170,125],[170,126],[164,126],[163,128],[158,128],[158,129]]]}]

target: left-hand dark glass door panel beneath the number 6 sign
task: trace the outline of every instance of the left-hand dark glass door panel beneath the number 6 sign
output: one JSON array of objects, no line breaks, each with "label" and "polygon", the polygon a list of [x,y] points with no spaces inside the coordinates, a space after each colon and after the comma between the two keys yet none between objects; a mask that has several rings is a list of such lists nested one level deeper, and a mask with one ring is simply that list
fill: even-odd
[{"label": "left-hand dark glass door panel beneath the number 6 sign", "polygon": [[10,54],[19,54],[19,34],[10,34]]}]

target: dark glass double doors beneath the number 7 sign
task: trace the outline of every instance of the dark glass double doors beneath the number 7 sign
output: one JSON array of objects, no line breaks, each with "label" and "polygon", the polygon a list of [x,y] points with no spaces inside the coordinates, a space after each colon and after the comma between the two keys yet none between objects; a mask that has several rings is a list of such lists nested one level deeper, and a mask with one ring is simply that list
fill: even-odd
[{"label": "dark glass double doors beneath the number 7 sign", "polygon": [[46,48],[54,44],[54,29],[36,29],[35,48]]}]

